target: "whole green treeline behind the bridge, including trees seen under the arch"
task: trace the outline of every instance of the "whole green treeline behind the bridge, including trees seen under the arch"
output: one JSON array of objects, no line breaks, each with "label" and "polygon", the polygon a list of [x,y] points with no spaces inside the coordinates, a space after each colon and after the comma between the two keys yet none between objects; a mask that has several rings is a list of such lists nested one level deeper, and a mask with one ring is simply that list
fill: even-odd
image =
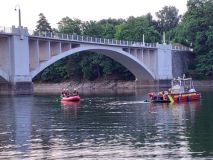
[{"label": "whole green treeline behind the bridge, including trees seen under the arch", "polygon": [[[44,14],[39,14],[36,31],[87,35],[92,37],[180,43],[194,50],[196,60],[186,74],[196,79],[213,78],[213,1],[188,0],[187,11],[178,14],[174,6],[165,6],[156,12],[157,20],[148,13],[128,19],[86,21],[64,17],[58,28],[52,28]],[[34,80],[60,82],[64,80],[95,80],[97,78],[133,80],[134,75],[121,64],[102,54],[80,52],[68,56],[46,68]]]}]

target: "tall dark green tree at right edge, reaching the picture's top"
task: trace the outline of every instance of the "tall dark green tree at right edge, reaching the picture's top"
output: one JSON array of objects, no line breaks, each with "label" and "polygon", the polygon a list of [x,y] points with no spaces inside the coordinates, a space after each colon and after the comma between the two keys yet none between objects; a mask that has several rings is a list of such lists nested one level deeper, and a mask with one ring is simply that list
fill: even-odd
[{"label": "tall dark green tree at right edge, reaching the picture's top", "polygon": [[196,64],[192,74],[199,78],[213,77],[213,1],[188,0],[187,8],[176,40],[194,49]]}]

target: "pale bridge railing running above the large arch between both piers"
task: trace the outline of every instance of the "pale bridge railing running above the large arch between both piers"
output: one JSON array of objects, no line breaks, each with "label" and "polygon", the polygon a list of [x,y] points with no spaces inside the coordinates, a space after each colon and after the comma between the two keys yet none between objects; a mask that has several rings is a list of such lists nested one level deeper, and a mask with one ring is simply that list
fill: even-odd
[{"label": "pale bridge railing running above the large arch between both piers", "polygon": [[85,43],[94,43],[94,44],[105,44],[105,45],[117,45],[117,46],[131,46],[131,47],[147,47],[147,48],[156,48],[157,43],[143,43],[135,41],[125,41],[117,39],[106,39],[90,36],[81,36],[77,34],[63,34],[56,32],[35,32],[28,31],[30,36],[42,37],[42,38],[53,38],[53,39],[62,39],[76,42],[85,42]]}]

